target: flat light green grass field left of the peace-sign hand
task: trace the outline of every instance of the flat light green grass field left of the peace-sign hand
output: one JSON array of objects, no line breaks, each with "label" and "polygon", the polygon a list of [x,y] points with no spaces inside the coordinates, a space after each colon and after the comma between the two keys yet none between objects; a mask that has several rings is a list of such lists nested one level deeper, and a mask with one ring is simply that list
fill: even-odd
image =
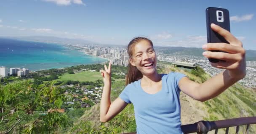
[{"label": "flat light green grass field left of the peace-sign hand", "polygon": [[65,80],[78,80],[78,81],[95,81],[95,80],[101,80],[101,73],[100,72],[91,72],[91,71],[84,71],[84,72],[79,72],[75,74],[64,74],[61,77],[59,77],[60,81],[65,81]]}]

